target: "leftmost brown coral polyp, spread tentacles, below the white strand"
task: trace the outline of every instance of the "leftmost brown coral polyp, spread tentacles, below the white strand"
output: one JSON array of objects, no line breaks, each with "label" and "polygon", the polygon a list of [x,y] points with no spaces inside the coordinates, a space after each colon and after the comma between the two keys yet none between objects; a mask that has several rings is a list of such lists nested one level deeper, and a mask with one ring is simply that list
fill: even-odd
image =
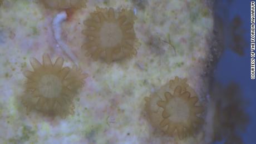
[{"label": "leftmost brown coral polyp, spread tentacles, below the white strand", "polygon": [[73,67],[62,67],[63,58],[51,62],[48,54],[43,55],[43,63],[31,59],[34,71],[25,71],[27,77],[25,95],[22,102],[27,112],[32,109],[45,114],[65,117],[73,113],[73,97],[83,85],[86,74]]}]

